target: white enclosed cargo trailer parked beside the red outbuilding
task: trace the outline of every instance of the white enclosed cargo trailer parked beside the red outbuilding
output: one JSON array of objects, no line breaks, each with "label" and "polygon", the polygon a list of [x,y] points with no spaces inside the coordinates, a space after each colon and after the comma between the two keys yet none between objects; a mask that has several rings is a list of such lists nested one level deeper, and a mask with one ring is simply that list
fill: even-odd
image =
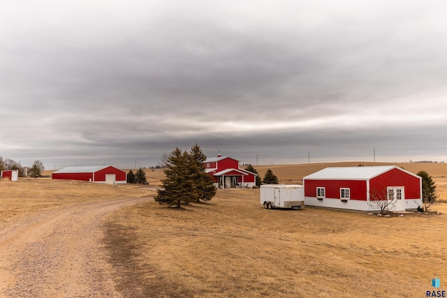
[{"label": "white enclosed cargo trailer parked beside the red outbuilding", "polygon": [[298,184],[261,185],[261,205],[265,209],[305,207],[305,187]]}]

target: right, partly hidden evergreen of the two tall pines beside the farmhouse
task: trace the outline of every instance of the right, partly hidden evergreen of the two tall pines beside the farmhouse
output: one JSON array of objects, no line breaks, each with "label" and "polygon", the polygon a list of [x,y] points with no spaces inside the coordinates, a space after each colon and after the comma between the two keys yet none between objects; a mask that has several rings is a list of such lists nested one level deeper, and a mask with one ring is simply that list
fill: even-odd
[{"label": "right, partly hidden evergreen of the two tall pines beside the farmhouse", "polygon": [[212,177],[205,172],[203,162],[207,156],[203,153],[198,144],[194,144],[189,151],[190,170],[193,181],[196,184],[197,200],[196,202],[209,201],[216,195],[216,186]]}]

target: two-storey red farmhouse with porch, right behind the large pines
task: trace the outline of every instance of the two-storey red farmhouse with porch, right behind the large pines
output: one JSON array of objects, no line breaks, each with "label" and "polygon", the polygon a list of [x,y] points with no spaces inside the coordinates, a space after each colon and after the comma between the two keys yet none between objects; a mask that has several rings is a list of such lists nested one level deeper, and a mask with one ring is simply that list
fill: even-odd
[{"label": "two-storey red farmhouse with porch, right behind the large pines", "polygon": [[203,162],[205,171],[214,179],[217,188],[256,186],[256,174],[239,167],[239,161],[228,156],[207,158]]}]

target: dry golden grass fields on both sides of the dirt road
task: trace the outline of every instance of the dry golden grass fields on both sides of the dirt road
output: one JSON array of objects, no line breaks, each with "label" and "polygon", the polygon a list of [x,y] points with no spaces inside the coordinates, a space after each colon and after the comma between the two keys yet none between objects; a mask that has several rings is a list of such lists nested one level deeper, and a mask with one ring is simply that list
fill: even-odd
[{"label": "dry golden grass fields on both sides of the dirt road", "polygon": [[[256,169],[263,177],[270,167],[292,184],[335,165],[358,163]],[[403,167],[426,170],[447,198],[447,165]],[[60,204],[152,197],[163,171],[146,173],[149,186],[0,181],[0,228]],[[381,218],[312,207],[267,210],[258,198],[256,189],[227,189],[182,209],[149,200],[108,214],[103,243],[115,288],[123,297],[425,297],[438,276],[447,290],[447,203],[436,207],[440,215]]]}]

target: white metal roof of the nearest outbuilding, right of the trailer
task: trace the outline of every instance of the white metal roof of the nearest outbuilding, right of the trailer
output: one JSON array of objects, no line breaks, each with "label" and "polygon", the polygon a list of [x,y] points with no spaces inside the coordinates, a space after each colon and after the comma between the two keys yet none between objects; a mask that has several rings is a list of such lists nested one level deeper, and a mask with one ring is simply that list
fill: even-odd
[{"label": "white metal roof of the nearest outbuilding, right of the trailer", "polygon": [[314,172],[314,174],[304,177],[304,179],[365,180],[372,179],[373,177],[376,177],[377,175],[387,172],[395,167],[395,165],[383,165],[376,167],[326,167],[323,170],[319,170],[318,172]]}]

